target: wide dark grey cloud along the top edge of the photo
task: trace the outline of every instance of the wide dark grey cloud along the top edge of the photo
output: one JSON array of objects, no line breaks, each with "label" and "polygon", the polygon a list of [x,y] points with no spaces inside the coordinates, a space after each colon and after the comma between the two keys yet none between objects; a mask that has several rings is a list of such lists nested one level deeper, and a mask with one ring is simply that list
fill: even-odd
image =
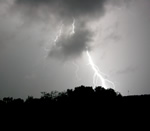
[{"label": "wide dark grey cloud along the top edge of the photo", "polygon": [[102,14],[107,0],[16,0],[16,4],[25,6],[31,15],[39,9],[51,11],[63,17],[85,17]]}]

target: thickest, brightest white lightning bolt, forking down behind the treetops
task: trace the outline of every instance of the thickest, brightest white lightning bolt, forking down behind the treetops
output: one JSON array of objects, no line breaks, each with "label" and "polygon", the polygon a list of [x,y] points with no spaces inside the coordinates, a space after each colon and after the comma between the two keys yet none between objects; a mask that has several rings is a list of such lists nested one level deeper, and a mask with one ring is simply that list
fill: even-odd
[{"label": "thickest, brightest white lightning bolt, forking down behind the treetops", "polygon": [[[97,65],[94,64],[93,60],[92,60],[92,57],[91,55],[89,54],[89,51],[87,50],[86,51],[86,54],[88,56],[88,60],[89,60],[89,65],[92,67],[93,71],[94,71],[94,75],[93,75],[93,85],[94,85],[94,88],[97,86],[97,81],[98,79],[100,79],[101,81],[101,86],[104,87],[104,88],[108,88],[107,84],[106,83],[110,83],[112,85],[112,88],[115,89],[115,84],[104,78],[102,75],[105,75],[104,73],[100,72],[99,68]],[[106,75],[105,75],[106,76]]]}]

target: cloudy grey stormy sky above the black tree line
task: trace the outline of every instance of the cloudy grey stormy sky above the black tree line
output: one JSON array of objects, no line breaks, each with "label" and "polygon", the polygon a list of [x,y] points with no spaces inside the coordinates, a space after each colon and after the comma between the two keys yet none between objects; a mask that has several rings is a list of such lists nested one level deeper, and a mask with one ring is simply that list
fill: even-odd
[{"label": "cloudy grey stormy sky above the black tree line", "polygon": [[0,98],[93,86],[87,50],[116,91],[150,94],[149,12],[149,0],[0,0]]}]

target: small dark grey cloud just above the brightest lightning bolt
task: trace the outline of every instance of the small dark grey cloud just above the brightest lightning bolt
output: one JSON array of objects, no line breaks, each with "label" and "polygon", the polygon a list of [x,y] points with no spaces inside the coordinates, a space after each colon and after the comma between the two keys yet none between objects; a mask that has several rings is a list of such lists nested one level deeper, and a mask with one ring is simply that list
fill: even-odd
[{"label": "small dark grey cloud just above the brightest lightning bolt", "polygon": [[82,55],[83,51],[90,49],[93,33],[86,28],[76,26],[73,35],[62,34],[49,52],[49,56],[62,60],[70,60]]}]

